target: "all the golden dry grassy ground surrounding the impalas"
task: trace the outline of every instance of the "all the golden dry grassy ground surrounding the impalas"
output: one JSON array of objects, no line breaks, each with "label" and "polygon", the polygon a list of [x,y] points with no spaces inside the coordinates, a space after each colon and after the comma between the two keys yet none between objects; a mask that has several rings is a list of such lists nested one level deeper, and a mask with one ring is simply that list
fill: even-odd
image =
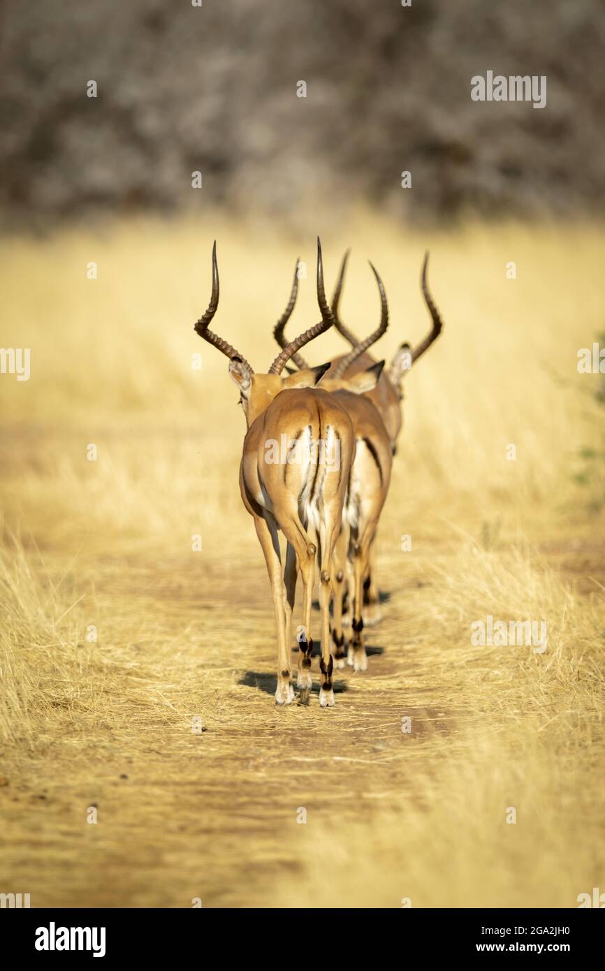
[{"label": "all the golden dry grassy ground surrounding the impalas", "polygon": [[[577,906],[605,890],[605,406],[576,366],[605,330],[602,228],[360,217],[324,236],[328,287],[353,245],[357,332],[378,317],[362,257],[384,277],[381,355],[427,328],[427,245],[446,321],[405,382],[369,670],[339,672],[327,711],[274,704],[244,417],[192,330],[215,235],[216,329],[263,370],[297,253],[290,330],[318,318],[312,238],[209,218],[1,244],[1,343],[31,348],[31,378],[0,377],[0,889],[34,907]],[[308,357],[342,348],[327,334]],[[546,652],[472,646],[487,615],[545,619]]]}]

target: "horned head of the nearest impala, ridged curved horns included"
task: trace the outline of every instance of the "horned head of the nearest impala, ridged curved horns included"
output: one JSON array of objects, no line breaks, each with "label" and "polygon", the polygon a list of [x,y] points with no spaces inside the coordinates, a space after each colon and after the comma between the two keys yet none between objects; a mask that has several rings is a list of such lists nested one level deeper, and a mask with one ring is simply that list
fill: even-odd
[{"label": "horned head of the nearest impala, ridged curved horns included", "polygon": [[254,374],[252,365],[240,352],[236,351],[230,344],[227,344],[221,337],[218,337],[212,330],[209,330],[208,325],[212,318],[214,318],[218,308],[219,287],[216,242],[213,247],[212,266],[213,281],[210,303],[203,317],[199,318],[194,324],[194,330],[200,337],[203,337],[209,344],[213,344],[218,348],[218,351],[229,358],[229,375],[231,380],[239,388],[240,404],[244,410],[246,421],[250,426],[252,421],[266,410],[281,391],[317,385],[321,376],[330,366],[329,363],[320,364],[318,367],[305,367],[302,371],[297,371],[294,374],[282,375],[290,357],[296,355],[300,348],[303,348],[309,341],[322,334],[334,322],[323,288],[321,244],[318,238],[318,303],[321,312],[321,321],[314,327],[305,330],[295,340],[286,344],[284,350],[278,354],[269,367],[268,372],[265,374]]}]

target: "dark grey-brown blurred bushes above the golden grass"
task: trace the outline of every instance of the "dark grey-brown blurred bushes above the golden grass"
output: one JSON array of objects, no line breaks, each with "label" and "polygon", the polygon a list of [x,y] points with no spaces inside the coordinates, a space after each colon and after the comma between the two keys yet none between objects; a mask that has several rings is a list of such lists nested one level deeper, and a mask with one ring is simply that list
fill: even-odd
[{"label": "dark grey-brown blurred bushes above the golden grass", "polygon": [[[3,0],[0,17],[11,223],[209,200],[296,221],[318,198],[441,222],[603,207],[600,0]],[[546,110],[472,102],[487,69],[547,75]]]}]

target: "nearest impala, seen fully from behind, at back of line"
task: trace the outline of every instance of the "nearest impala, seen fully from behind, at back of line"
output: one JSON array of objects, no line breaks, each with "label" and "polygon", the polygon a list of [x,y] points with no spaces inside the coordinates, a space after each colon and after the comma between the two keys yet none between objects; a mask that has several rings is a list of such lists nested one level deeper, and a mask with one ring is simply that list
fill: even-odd
[{"label": "nearest impala, seen fully from behind, at back of line", "polygon": [[[317,288],[321,322],[288,344],[267,374],[254,374],[241,354],[208,329],[218,307],[215,243],[212,296],[195,330],[229,358],[229,374],[240,389],[240,403],[248,425],[240,465],[240,491],[254,519],[271,583],[278,642],[276,700],[281,705],[294,700],[290,684],[290,629],[297,571],[303,584],[304,634],[299,642],[297,679],[302,702],[308,700],[312,688],[311,606],[317,553],[321,607],[319,704],[328,707],[334,704],[329,630],[332,556],[351,472],[353,426],[334,397],[315,387],[327,364],[281,377],[292,354],[334,321],[325,299],[319,239]],[[287,442],[286,458],[272,460],[269,456],[274,456],[282,436]],[[284,580],[278,529],[287,540]]]}]

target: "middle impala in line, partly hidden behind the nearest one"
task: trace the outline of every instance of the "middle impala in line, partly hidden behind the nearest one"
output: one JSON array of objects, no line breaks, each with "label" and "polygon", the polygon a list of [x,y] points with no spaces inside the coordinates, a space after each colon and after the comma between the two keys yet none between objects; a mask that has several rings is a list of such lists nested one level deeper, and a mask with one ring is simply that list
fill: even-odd
[{"label": "middle impala in line, partly hidden behind the nearest one", "polygon": [[[352,587],[353,602],[353,641],[349,649],[349,661],[355,671],[367,669],[367,657],[363,645],[363,585],[370,573],[370,552],[374,543],[378,520],[387,498],[390,482],[392,450],[385,422],[372,400],[371,392],[376,388],[383,370],[384,361],[372,365],[365,371],[351,373],[355,359],[366,352],[387,330],[388,307],[385,287],[375,267],[370,263],[381,297],[381,320],[369,337],[358,344],[352,352],[340,360],[338,367],[333,366],[321,380],[321,386],[330,391],[339,404],[347,410],[353,421],[355,451],[343,531],[339,539],[333,575],[333,627],[332,638],[335,645],[336,666],[345,664],[345,636],[343,633],[343,605],[348,588]],[[340,281],[342,284],[342,280]],[[280,318],[274,335],[283,347],[287,347],[284,327],[296,301],[298,277],[294,281],[286,312]],[[300,353],[292,355],[296,364],[303,369],[308,365]],[[349,369],[349,370],[348,370]],[[348,377],[344,377],[345,372]],[[330,378],[329,376],[332,375]],[[349,576],[351,573],[353,577]],[[353,580],[353,584],[350,583]]]}]

